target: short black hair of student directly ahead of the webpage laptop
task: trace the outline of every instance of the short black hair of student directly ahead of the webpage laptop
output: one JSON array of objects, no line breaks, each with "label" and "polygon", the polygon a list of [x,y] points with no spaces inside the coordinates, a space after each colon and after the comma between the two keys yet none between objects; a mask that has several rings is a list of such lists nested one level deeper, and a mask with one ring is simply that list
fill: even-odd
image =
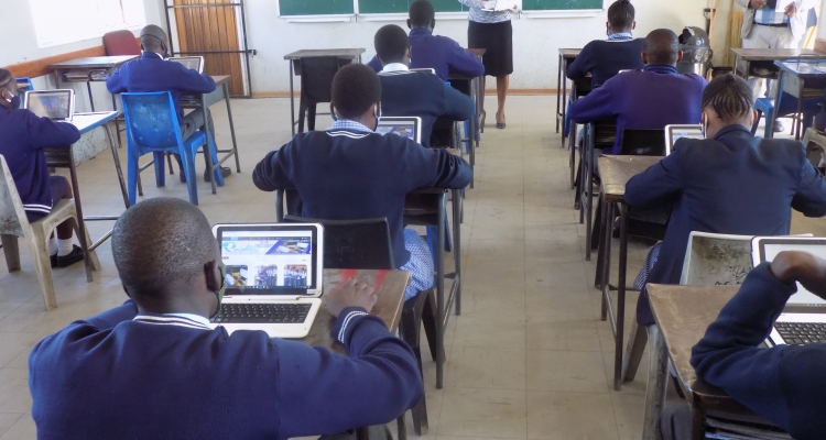
[{"label": "short black hair of student directly ahead of the webpage laptop", "polygon": [[356,119],[381,101],[381,79],[371,67],[348,64],[333,77],[333,106],[346,119]]}]

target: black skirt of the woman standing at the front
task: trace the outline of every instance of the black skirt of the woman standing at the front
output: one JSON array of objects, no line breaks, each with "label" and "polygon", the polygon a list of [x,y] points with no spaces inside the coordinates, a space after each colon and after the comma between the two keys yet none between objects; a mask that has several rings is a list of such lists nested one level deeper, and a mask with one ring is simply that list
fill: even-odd
[{"label": "black skirt of the woman standing at the front", "polygon": [[485,75],[507,76],[513,73],[513,26],[510,20],[499,23],[470,21],[467,41],[470,48],[487,50],[482,55]]}]

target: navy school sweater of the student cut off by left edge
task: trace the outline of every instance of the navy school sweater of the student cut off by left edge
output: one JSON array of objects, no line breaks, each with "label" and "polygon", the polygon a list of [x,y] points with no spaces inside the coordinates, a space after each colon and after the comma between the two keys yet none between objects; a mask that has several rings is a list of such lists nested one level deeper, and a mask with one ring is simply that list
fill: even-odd
[{"label": "navy school sweater of the student cut off by left edge", "polygon": [[39,118],[25,109],[0,106],[0,155],[6,157],[14,186],[26,212],[52,211],[48,166],[44,147],[69,146],[80,139],[77,128],[66,122]]}]

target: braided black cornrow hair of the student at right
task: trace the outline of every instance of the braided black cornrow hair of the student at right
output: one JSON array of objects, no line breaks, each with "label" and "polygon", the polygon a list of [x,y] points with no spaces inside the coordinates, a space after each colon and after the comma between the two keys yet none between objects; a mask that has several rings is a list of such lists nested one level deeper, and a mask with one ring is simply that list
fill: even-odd
[{"label": "braided black cornrow hair of the student at right", "polygon": [[721,120],[732,122],[754,108],[749,82],[732,74],[720,75],[703,90],[703,108],[710,107]]}]

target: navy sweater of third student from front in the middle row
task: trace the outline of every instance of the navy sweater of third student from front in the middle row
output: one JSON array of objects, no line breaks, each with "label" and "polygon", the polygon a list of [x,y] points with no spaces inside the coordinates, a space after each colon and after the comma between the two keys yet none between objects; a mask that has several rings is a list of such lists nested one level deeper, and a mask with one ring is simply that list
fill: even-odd
[{"label": "navy sweater of third student from front in the middle row", "polygon": [[437,118],[466,121],[476,106],[469,96],[427,72],[385,72],[381,78],[381,113],[387,117],[422,118],[422,145],[431,146]]}]

